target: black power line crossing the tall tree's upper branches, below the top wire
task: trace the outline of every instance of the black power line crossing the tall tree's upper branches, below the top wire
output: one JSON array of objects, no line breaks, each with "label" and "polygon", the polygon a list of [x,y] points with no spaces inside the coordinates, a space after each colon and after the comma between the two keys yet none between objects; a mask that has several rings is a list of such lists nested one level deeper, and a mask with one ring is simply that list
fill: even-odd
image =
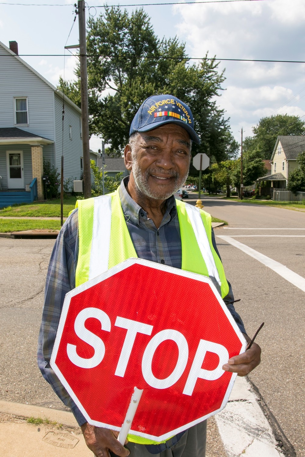
[{"label": "black power line crossing the tall tree's upper branches, below the top wire", "polygon": [[[6,57],[0,55],[0,57]],[[16,57],[16,56],[13,56]],[[64,57],[64,54],[18,54],[18,57]],[[86,54],[86,57],[109,57],[107,54]],[[267,60],[267,59],[247,59],[247,58],[218,58],[218,57],[169,57],[169,56],[136,56],[136,55],[119,55],[116,58],[147,58],[147,59],[171,59],[171,60],[219,60],[230,62],[270,62],[279,64],[305,64],[305,60]]]}]

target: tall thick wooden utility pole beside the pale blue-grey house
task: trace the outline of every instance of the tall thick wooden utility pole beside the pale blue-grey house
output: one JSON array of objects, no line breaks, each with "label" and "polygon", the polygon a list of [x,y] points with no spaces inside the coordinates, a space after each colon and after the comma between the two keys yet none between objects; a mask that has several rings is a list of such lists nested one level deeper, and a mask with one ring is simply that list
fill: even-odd
[{"label": "tall thick wooden utility pole beside the pale blue-grey house", "polygon": [[84,170],[84,197],[91,197],[91,172],[89,149],[89,114],[88,114],[88,77],[87,77],[87,50],[86,50],[86,16],[85,1],[79,0],[78,24],[80,33],[80,99],[81,124],[83,137],[83,170]]}]

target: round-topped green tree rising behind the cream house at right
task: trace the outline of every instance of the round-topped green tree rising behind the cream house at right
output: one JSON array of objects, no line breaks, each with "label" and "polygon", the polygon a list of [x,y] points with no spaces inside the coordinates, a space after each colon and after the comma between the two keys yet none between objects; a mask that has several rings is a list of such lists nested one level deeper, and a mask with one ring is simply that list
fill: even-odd
[{"label": "round-topped green tree rising behind the cream house at right", "polygon": [[298,116],[277,114],[262,117],[252,131],[254,136],[246,137],[243,142],[245,152],[258,150],[262,154],[262,159],[270,159],[278,135],[304,135],[305,121]]}]

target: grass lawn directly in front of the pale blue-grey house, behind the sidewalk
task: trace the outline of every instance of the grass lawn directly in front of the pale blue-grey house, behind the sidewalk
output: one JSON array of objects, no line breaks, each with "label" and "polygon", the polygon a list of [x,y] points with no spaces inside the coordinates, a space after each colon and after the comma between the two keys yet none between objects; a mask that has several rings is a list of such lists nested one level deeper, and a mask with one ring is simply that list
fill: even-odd
[{"label": "grass lawn directly in front of the pale blue-grey house, behind the sidewalk", "polygon": [[[77,197],[64,199],[64,218],[67,218],[70,211],[75,208],[76,200]],[[8,206],[0,209],[0,216],[60,218],[60,199]]]}]

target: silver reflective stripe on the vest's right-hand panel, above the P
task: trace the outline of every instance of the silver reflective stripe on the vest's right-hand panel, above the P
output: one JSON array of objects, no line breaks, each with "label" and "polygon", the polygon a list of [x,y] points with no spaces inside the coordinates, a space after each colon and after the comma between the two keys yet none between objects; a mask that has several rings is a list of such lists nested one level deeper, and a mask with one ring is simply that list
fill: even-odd
[{"label": "silver reflective stripe on the vest's right-hand panel, above the P", "polygon": [[198,246],[200,248],[200,252],[203,256],[203,260],[205,261],[205,265],[207,266],[209,277],[214,282],[215,286],[218,288],[221,286],[221,281],[219,279],[218,270],[215,265],[215,260],[210,248],[208,235],[205,231],[202,218],[200,216],[199,208],[196,208],[192,205],[185,204],[185,208],[187,210],[187,216],[189,217]]}]

